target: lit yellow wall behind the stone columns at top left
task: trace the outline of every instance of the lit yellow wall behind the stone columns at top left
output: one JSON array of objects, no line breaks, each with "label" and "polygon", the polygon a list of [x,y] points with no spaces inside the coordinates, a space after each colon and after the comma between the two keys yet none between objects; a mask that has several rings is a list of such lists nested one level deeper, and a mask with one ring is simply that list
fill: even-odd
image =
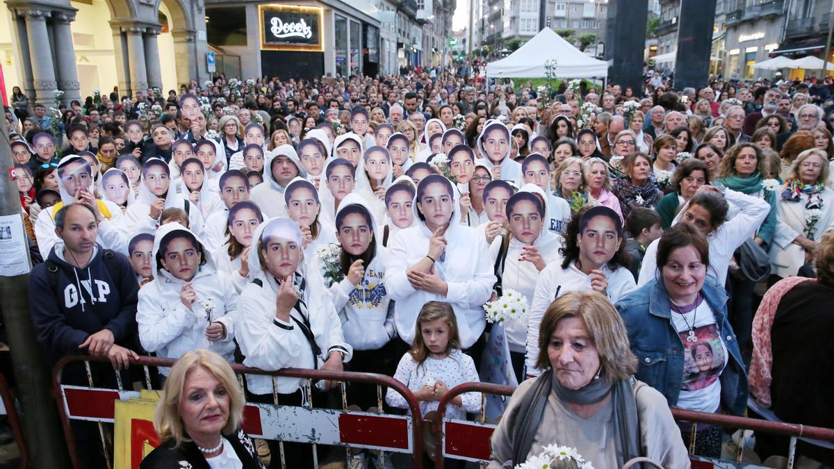
[{"label": "lit yellow wall behind the stone columns at top left", "polygon": [[[72,5],[78,8],[71,28],[78,64],[78,80],[81,82],[81,97],[91,96],[95,88],[100,89],[102,93],[109,93],[118,84],[118,76],[113,53],[113,30],[108,24],[110,10],[106,0],[93,0],[92,5],[79,2],[73,2]],[[171,18],[164,4],[160,5],[160,11],[167,18]],[[173,27],[170,20],[168,27]],[[13,35],[11,12],[0,3],[0,63],[3,64],[3,78],[9,97],[12,95],[12,87],[23,83],[23,72],[16,57],[16,44],[12,42]],[[157,43],[162,67],[163,95],[167,95],[168,89],[177,88],[173,36],[171,33],[162,33],[158,36]],[[120,94],[124,92],[125,90],[120,90]]]}]

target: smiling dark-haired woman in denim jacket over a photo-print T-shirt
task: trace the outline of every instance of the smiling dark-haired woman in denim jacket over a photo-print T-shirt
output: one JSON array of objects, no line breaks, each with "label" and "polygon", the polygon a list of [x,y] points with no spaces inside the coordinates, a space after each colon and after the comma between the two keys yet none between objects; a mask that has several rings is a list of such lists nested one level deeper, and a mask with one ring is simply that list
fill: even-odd
[{"label": "smiling dark-haired woman in denim jacket over a photo-print T-shirt", "polygon": [[[691,411],[744,414],[747,375],[727,320],[727,297],[707,275],[709,245],[680,223],[661,238],[655,279],[616,304],[639,362],[636,377]],[[684,441],[691,426],[681,426]],[[699,426],[695,452],[721,456],[721,427]]]}]

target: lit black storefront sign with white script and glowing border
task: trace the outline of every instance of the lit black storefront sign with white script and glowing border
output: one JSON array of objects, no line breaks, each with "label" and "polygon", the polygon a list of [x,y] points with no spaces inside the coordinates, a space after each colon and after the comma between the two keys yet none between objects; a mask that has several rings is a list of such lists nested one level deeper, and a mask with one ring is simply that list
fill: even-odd
[{"label": "lit black storefront sign with white script and glowing border", "polygon": [[297,5],[259,5],[261,48],[322,50],[322,9]]}]

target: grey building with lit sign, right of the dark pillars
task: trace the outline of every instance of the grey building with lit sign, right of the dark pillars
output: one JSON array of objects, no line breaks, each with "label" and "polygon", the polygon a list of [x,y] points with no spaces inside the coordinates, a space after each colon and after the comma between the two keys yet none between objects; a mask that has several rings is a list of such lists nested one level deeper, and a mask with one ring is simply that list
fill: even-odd
[{"label": "grey building with lit sign, right of the dark pillars", "polygon": [[[726,0],[725,78],[771,78],[774,72],[753,68],[779,48],[785,27],[785,0]],[[717,8],[716,8],[717,9]],[[715,53],[715,51],[713,51]]]}]

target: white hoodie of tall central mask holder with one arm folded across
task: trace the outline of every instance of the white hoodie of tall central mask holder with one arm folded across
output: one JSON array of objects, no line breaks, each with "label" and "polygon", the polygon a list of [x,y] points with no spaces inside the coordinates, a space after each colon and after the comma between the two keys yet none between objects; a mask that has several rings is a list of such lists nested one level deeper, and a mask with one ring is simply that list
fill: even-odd
[{"label": "white hoodie of tall central mask holder with one arm folded across", "polygon": [[[449,182],[443,176],[433,174],[420,181],[420,184],[424,181],[438,181],[438,178]],[[455,192],[454,189],[452,192]],[[416,198],[413,209],[414,217],[419,219]],[[445,296],[416,290],[405,273],[429,252],[432,233],[425,222],[402,229],[389,240],[392,261],[385,272],[385,290],[396,301],[394,322],[399,336],[407,343],[414,340],[414,328],[420,309],[427,301],[433,300],[451,303],[457,317],[462,349],[470,348],[484,332],[486,319],[482,306],[490,300],[495,275],[483,235],[458,222],[459,209],[458,204],[453,204],[452,217],[444,235],[446,249],[434,265],[437,275],[448,284],[449,290]]]}]

